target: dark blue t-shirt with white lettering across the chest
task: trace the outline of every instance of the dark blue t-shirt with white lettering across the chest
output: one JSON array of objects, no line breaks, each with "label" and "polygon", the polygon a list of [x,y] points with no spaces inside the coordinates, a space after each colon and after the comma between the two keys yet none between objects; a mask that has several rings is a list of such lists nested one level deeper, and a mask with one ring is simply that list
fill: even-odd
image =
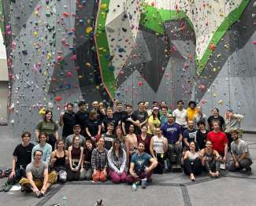
[{"label": "dark blue t-shirt with white lettering across the chest", "polygon": [[167,138],[169,144],[175,144],[179,140],[181,130],[180,125],[178,125],[177,123],[173,123],[173,125],[165,123],[161,127],[161,131],[164,137]]}]

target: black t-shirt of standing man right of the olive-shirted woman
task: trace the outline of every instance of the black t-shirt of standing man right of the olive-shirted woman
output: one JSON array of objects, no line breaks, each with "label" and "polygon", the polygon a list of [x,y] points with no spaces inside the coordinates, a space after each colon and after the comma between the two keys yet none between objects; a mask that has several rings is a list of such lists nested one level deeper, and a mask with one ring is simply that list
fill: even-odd
[{"label": "black t-shirt of standing man right of the olive-shirted woman", "polygon": [[75,124],[76,124],[75,112],[72,112],[72,113],[65,112],[63,115],[62,136],[68,137],[70,134],[73,134],[73,127]]}]

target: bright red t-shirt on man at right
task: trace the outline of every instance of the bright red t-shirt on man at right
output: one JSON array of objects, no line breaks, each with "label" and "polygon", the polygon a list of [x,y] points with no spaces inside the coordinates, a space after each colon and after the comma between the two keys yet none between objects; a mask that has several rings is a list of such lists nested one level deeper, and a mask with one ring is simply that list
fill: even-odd
[{"label": "bright red t-shirt on man at right", "polygon": [[224,132],[219,131],[215,133],[214,131],[210,131],[207,134],[207,140],[213,143],[213,149],[217,150],[221,155],[224,155],[224,144],[228,144],[228,138]]}]

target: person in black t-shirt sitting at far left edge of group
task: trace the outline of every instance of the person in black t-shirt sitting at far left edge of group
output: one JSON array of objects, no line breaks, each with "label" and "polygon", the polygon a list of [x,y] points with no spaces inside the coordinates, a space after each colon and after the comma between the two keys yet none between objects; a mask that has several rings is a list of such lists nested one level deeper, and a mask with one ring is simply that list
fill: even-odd
[{"label": "person in black t-shirt sitting at far left edge of group", "polygon": [[1,192],[8,192],[9,189],[20,181],[20,178],[26,177],[26,167],[32,162],[32,149],[35,146],[30,142],[31,134],[25,131],[21,134],[21,144],[17,145],[13,151],[12,172],[7,182],[2,186]]}]

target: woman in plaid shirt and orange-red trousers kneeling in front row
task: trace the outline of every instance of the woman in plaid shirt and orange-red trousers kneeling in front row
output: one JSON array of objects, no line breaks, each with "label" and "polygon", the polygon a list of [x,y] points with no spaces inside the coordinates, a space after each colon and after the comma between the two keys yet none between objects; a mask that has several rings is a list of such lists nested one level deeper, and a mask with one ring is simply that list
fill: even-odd
[{"label": "woman in plaid shirt and orange-red trousers kneeling in front row", "polygon": [[97,147],[91,153],[92,181],[105,182],[108,168],[108,150],[104,148],[104,138],[99,138]]}]

